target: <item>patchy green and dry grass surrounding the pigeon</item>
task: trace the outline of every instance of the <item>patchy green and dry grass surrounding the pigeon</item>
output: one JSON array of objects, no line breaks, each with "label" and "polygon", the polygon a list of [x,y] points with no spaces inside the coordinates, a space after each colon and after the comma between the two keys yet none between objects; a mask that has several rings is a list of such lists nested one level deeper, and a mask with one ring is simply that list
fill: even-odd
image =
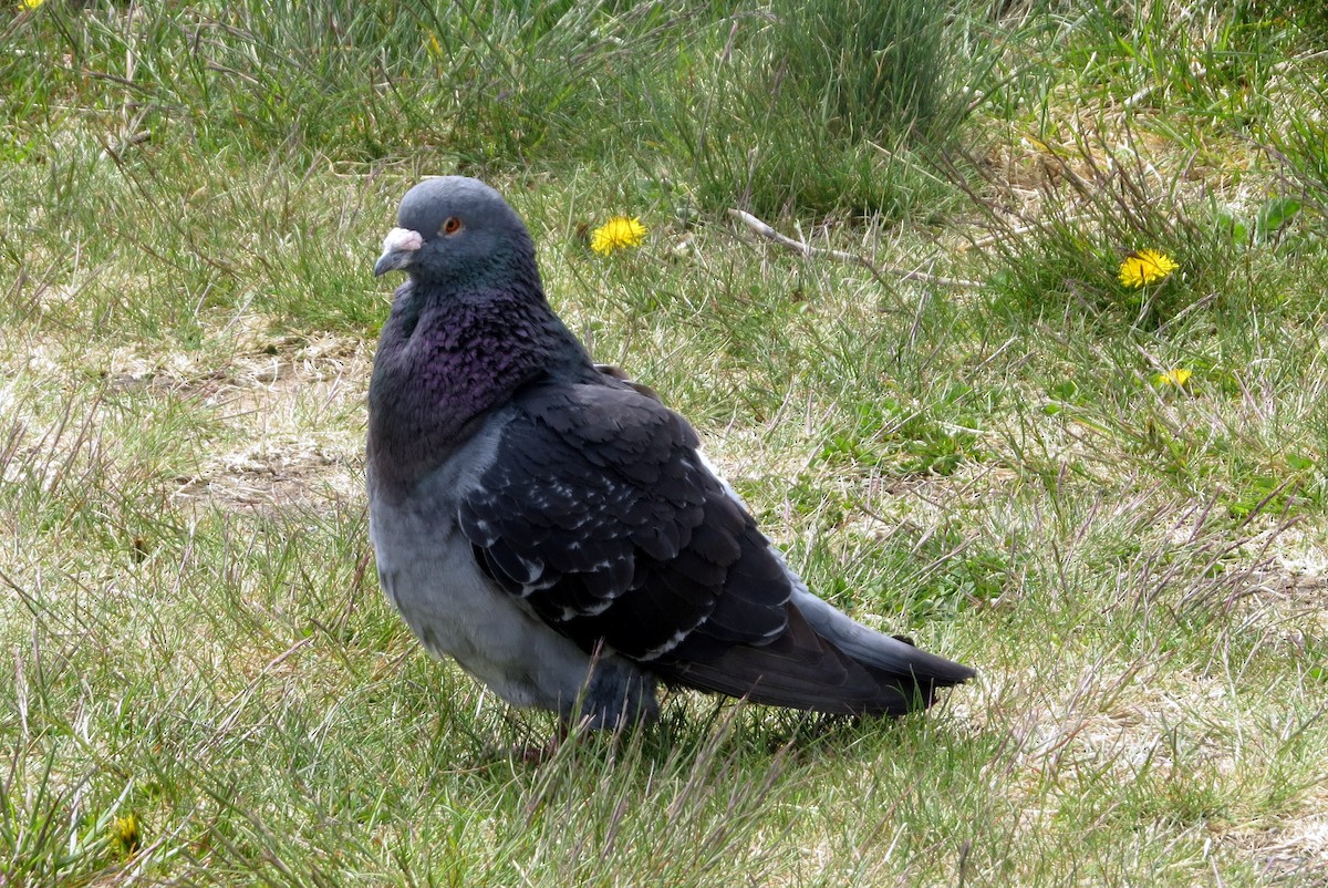
[{"label": "patchy green and dry grass surrounding the pigeon", "polygon": [[[0,885],[1328,884],[1323,13],[850,5],[0,13]],[[368,267],[453,170],[814,589],[979,679],[513,756],[551,719],[365,529]]]}]

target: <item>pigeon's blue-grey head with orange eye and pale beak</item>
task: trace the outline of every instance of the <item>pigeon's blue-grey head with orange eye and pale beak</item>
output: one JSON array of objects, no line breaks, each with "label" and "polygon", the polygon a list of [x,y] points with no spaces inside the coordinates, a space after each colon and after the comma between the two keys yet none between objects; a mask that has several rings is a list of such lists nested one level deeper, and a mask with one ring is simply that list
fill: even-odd
[{"label": "pigeon's blue-grey head with orange eye and pale beak", "polygon": [[406,191],[397,226],[382,241],[374,277],[401,270],[422,283],[509,283],[534,274],[525,223],[479,179],[442,175]]}]

